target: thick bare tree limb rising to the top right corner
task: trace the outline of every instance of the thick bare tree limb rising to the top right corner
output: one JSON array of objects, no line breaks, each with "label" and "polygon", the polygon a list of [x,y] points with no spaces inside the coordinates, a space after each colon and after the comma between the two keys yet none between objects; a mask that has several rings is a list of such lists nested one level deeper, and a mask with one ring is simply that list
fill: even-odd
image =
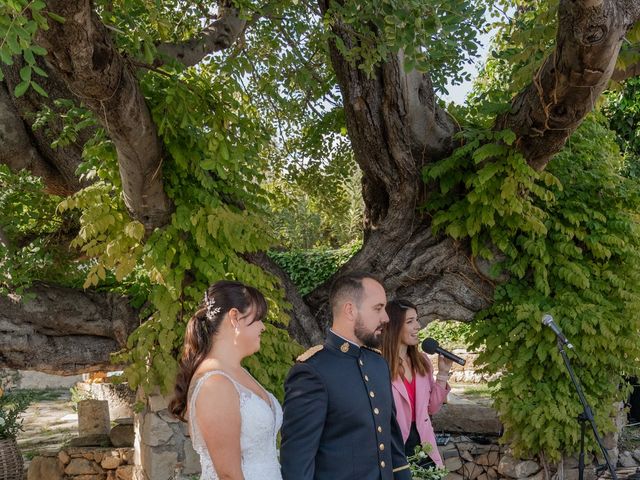
[{"label": "thick bare tree limb rising to the top right corner", "polygon": [[593,110],[638,10],[631,0],[560,2],[555,51],[496,123],[516,133],[532,167],[542,170]]}]

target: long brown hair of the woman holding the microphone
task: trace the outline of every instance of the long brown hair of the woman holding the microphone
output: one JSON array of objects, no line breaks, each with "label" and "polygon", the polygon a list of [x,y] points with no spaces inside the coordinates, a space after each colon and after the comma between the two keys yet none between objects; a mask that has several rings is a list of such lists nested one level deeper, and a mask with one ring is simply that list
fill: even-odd
[{"label": "long brown hair of the woman holding the microphone", "polygon": [[[389,315],[389,323],[382,331],[382,356],[389,364],[391,379],[395,380],[404,376],[404,367],[400,359],[400,334],[409,309],[418,311],[416,306],[407,300],[392,300],[387,303],[386,310]],[[407,345],[407,355],[411,360],[413,372],[417,375],[430,375],[431,365],[418,350],[417,345]]]}]

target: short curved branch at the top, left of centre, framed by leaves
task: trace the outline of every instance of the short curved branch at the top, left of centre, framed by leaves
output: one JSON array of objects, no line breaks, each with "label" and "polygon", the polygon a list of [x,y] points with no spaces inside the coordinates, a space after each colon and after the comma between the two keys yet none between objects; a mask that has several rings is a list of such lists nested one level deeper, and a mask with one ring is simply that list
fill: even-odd
[{"label": "short curved branch at the top, left of centre, framed by leaves", "polygon": [[190,67],[211,53],[229,48],[242,35],[246,25],[247,21],[240,18],[237,9],[222,7],[218,19],[199,36],[182,43],[164,43],[158,46],[158,52]]}]

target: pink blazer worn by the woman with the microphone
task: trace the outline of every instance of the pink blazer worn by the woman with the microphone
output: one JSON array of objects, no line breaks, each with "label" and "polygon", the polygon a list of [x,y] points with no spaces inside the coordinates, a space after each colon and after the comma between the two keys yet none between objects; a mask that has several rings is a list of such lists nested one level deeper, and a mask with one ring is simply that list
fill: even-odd
[{"label": "pink blazer worn by the woman with the microphone", "polygon": [[[431,365],[426,355],[425,358]],[[433,372],[433,367],[431,371]],[[407,438],[409,438],[409,430],[411,430],[411,402],[402,378],[396,378],[391,382],[391,385],[393,386],[393,400],[396,405],[396,419],[402,431],[402,440],[406,442]],[[436,436],[429,416],[440,410],[449,390],[451,390],[449,384],[447,384],[447,388],[442,388],[436,383],[433,375],[416,375],[416,428],[420,434],[420,441],[431,444],[432,448],[429,456],[439,466],[442,466],[443,463],[436,446]]]}]

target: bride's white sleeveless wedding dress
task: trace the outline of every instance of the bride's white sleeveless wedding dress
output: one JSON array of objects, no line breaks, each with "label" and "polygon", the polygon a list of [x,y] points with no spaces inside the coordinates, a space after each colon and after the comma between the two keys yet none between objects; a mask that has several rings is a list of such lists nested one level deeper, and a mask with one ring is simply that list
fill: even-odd
[{"label": "bride's white sleeveless wedding dress", "polygon": [[268,405],[262,397],[242,386],[221,370],[212,370],[202,375],[196,381],[189,400],[191,441],[194,450],[200,455],[200,465],[202,466],[200,479],[218,479],[196,421],[196,398],[198,398],[202,385],[211,375],[223,375],[228,378],[240,397],[240,450],[244,480],[282,480],[276,449],[276,436],[282,425],[282,407],[270,392],[267,392],[271,402],[271,405]]}]

